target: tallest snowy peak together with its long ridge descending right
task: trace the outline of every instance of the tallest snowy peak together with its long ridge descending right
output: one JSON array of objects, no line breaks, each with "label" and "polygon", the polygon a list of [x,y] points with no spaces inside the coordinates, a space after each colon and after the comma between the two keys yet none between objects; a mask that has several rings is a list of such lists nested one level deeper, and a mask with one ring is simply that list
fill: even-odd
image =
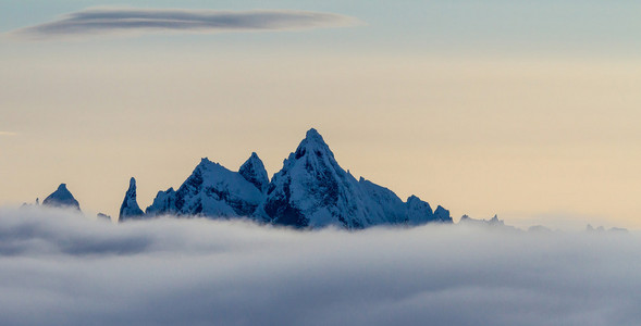
[{"label": "tallest snowy peak together with its long ridge descending right", "polygon": [[312,128],[272,178],[257,214],[273,224],[348,229],[452,222],[448,212],[434,215],[427,202],[410,199],[405,203],[387,188],[362,177],[356,180]]}]

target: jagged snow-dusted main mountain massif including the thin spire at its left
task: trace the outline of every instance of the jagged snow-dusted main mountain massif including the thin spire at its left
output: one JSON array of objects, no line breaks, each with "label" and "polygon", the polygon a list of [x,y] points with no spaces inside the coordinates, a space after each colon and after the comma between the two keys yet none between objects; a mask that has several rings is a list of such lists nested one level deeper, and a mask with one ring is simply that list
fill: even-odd
[{"label": "jagged snow-dusted main mountain massif including the thin spire at its left", "polygon": [[[126,214],[137,213],[135,208],[134,180],[125,195],[121,215],[123,210]],[[238,172],[202,159],[177,190],[159,191],[145,216],[163,214],[244,216],[297,228],[333,225],[358,229],[375,225],[452,223],[449,212],[442,206],[433,212],[428,202],[416,196],[404,202],[387,188],[362,177],[357,180],[338,165],[330,147],[313,128],[271,181],[256,153],[251,153]]]}]

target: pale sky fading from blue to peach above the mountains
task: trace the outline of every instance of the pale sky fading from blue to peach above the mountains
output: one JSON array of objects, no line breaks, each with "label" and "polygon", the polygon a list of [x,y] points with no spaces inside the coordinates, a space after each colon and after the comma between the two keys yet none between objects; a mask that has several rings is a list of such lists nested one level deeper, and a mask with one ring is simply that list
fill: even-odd
[{"label": "pale sky fading from blue to peach above the mountains", "polygon": [[[322,15],[264,30],[19,33],[96,7]],[[271,176],[316,127],[355,176],[455,221],[640,228],[640,9],[0,1],[0,204],[66,183],[85,212],[116,216],[131,176],[143,209],[204,156],[237,170],[256,151]]]}]

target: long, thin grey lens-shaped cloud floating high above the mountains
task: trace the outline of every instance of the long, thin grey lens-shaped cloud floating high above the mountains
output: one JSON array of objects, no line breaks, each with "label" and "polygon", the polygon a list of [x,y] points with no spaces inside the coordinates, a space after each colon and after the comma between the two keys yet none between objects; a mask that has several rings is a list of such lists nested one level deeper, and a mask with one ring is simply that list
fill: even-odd
[{"label": "long, thin grey lens-shaped cloud floating high above the mountains", "polygon": [[341,27],[354,17],[313,11],[213,11],[185,9],[95,8],[57,21],[10,32],[28,39],[145,33],[222,33]]}]

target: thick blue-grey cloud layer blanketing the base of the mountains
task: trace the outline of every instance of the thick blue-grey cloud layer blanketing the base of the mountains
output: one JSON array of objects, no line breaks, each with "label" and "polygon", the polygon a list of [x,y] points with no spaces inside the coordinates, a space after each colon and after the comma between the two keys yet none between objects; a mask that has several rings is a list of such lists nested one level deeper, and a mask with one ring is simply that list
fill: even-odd
[{"label": "thick blue-grey cloud layer blanketing the base of the mountains", "polygon": [[633,234],[0,210],[1,325],[638,325]]}]

